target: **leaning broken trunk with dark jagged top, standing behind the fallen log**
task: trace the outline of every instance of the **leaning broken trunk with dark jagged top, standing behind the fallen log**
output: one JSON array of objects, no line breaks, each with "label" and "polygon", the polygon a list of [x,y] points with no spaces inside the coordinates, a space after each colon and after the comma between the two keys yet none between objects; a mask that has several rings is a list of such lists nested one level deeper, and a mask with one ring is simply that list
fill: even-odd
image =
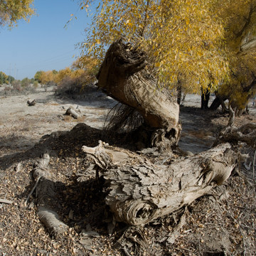
[{"label": "leaning broken trunk with dark jagged top, standing behind the fallen log", "polygon": [[157,137],[177,144],[181,127],[176,97],[168,90],[158,88],[157,80],[145,69],[146,65],[146,54],[120,39],[107,50],[97,74],[98,86],[115,100],[142,114],[146,125],[158,130],[158,135],[152,136],[155,141]]}]

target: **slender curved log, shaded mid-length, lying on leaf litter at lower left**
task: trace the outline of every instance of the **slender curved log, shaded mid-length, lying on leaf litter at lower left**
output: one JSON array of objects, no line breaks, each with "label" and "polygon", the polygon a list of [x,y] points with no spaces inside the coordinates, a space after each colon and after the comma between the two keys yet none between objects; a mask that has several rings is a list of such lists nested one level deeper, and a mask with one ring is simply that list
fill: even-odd
[{"label": "slender curved log, shaded mid-length, lying on leaf litter at lower left", "polygon": [[54,176],[48,170],[49,161],[50,156],[46,153],[36,162],[33,178],[35,178],[37,186],[34,186],[34,188],[36,187],[39,219],[50,234],[58,236],[68,230],[68,225],[60,221],[58,213],[49,206],[49,204],[53,205],[56,200]]}]

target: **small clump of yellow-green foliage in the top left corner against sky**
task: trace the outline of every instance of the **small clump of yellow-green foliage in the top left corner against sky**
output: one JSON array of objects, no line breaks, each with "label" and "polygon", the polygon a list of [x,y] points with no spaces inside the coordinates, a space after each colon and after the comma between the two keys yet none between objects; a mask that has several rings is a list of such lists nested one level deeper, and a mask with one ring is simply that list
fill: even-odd
[{"label": "small clump of yellow-green foliage in the top left corner against sky", "polygon": [[0,26],[8,25],[12,28],[16,26],[18,20],[29,21],[35,14],[32,4],[33,0],[0,0]]}]

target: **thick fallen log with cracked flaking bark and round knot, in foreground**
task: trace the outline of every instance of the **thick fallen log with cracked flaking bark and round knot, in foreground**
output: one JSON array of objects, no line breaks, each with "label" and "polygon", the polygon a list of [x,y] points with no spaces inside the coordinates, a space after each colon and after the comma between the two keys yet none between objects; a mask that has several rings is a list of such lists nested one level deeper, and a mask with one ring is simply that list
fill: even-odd
[{"label": "thick fallen log with cracked flaking bark and round knot, in foreground", "polygon": [[105,170],[105,201],[115,218],[129,225],[144,225],[189,205],[222,184],[236,159],[228,143],[169,166],[152,164],[144,156],[102,142],[82,150]]}]

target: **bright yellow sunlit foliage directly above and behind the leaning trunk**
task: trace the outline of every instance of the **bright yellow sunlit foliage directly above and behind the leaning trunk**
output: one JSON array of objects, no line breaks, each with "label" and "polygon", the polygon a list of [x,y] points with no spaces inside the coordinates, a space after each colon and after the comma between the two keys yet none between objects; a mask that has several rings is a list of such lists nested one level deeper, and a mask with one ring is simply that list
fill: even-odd
[{"label": "bright yellow sunlit foliage directly above and behind the leaning trunk", "polygon": [[[82,53],[102,58],[107,46],[123,36],[149,55],[159,82],[177,81],[199,91],[217,87],[228,74],[223,50],[224,26],[215,0],[104,0],[97,6]],[[92,1],[82,1],[88,9]]]}]

